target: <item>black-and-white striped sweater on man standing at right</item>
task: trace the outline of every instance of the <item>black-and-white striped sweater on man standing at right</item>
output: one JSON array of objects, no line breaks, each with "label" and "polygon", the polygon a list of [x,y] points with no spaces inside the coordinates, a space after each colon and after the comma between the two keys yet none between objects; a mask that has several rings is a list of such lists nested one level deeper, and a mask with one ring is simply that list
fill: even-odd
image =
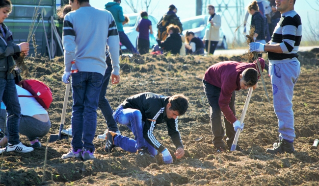
[{"label": "black-and-white striped sweater on man standing at right", "polygon": [[297,12],[291,10],[281,14],[269,44],[280,44],[283,53],[268,52],[269,64],[297,61],[301,36],[302,25]]}]

